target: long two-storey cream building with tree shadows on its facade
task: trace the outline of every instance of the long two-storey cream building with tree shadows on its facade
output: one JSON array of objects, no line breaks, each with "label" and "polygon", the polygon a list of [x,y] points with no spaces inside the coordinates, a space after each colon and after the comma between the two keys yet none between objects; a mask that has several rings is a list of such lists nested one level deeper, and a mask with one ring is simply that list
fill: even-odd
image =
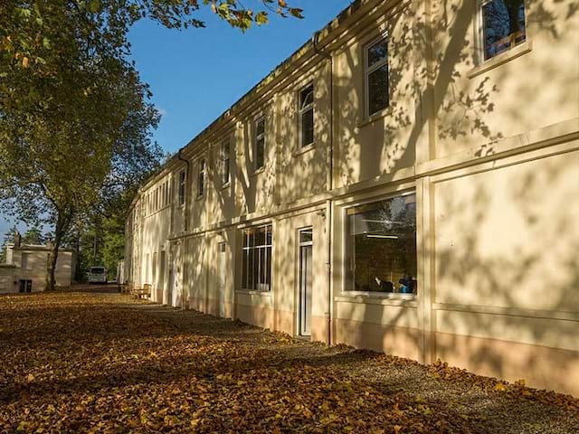
[{"label": "long two-storey cream building with tree shadows on its facade", "polygon": [[579,2],[358,1],[144,185],[153,300],[579,395]]}]

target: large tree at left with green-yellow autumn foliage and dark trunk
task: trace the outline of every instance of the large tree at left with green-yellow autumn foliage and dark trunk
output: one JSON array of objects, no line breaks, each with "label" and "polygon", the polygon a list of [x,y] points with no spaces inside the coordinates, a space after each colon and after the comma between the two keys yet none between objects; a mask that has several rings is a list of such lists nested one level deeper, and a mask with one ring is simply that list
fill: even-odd
[{"label": "large tree at left with green-yellow autumn foliage and dark trunk", "polygon": [[200,7],[243,31],[284,0],[3,0],[0,2],[0,201],[24,222],[53,228],[46,288],[75,222],[158,165],[159,114],[128,61],[128,30],[149,18],[200,27]]}]

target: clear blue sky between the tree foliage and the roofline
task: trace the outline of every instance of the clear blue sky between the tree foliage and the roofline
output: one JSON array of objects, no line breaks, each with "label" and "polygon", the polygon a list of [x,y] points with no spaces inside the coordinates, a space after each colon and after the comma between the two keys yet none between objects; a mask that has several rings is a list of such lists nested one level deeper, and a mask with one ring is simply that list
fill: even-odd
[{"label": "clear blue sky between the tree foliage and the roofline", "polygon": [[[350,4],[350,0],[288,0],[303,20],[271,16],[247,33],[221,22],[207,8],[207,27],[178,32],[142,21],[129,33],[132,57],[163,117],[153,137],[176,152],[229,109],[276,65]],[[256,5],[257,0],[245,2]],[[0,215],[0,236],[14,224]],[[24,231],[22,224],[18,225]]]}]

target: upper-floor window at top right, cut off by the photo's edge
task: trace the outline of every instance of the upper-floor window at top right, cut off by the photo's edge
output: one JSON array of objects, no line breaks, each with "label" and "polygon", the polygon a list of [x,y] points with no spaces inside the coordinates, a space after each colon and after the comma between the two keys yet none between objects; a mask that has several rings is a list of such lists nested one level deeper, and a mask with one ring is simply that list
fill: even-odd
[{"label": "upper-floor window at top right, cut off by the photo's edge", "polygon": [[488,61],[526,39],[524,0],[479,1],[482,61]]}]

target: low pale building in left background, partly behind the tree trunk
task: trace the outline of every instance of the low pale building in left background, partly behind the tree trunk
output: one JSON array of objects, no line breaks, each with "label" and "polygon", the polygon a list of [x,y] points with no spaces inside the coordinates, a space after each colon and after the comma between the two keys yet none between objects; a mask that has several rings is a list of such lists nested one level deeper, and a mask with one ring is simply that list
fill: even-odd
[{"label": "low pale building in left background, partly behind the tree trunk", "polygon": [[[0,263],[0,294],[43,291],[50,248],[22,244],[20,234],[6,246],[6,262]],[[76,252],[59,249],[54,278],[57,287],[71,286],[76,268]]]}]

